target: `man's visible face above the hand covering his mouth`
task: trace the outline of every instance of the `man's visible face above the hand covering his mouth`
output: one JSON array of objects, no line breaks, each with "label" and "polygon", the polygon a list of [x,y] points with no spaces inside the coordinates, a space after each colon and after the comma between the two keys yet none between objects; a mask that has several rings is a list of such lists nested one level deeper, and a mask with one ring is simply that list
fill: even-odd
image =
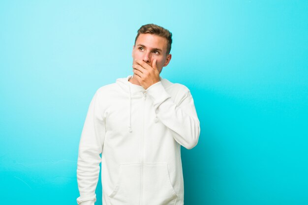
[{"label": "man's visible face above the hand covering his mouth", "polygon": [[162,67],[167,66],[171,60],[171,54],[166,55],[167,43],[167,39],[164,37],[141,33],[133,46],[133,60],[140,59],[152,66],[153,60],[156,59],[157,69],[160,73]]}]

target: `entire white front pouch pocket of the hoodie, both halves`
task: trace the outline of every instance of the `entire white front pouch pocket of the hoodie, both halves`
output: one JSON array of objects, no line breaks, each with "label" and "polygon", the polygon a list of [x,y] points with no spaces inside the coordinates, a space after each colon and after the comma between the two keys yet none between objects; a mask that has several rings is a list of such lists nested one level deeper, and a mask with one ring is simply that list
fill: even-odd
[{"label": "entire white front pouch pocket of the hoodie, both halves", "polygon": [[109,202],[110,205],[175,205],[177,198],[167,164],[137,163],[120,166]]}]

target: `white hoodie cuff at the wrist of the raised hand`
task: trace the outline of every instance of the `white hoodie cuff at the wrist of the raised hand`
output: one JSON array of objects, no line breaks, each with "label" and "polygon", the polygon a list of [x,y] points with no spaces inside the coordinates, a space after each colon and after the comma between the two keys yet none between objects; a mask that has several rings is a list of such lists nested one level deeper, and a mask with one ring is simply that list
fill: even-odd
[{"label": "white hoodie cuff at the wrist of the raised hand", "polygon": [[147,93],[153,100],[154,106],[159,106],[163,101],[171,97],[162,86],[161,82],[157,82],[146,89]]}]

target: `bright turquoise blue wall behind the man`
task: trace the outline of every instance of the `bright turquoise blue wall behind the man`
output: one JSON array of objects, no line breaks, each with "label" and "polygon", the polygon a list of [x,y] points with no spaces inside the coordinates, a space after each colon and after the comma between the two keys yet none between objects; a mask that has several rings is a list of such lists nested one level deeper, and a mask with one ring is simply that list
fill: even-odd
[{"label": "bright turquoise blue wall behind the man", "polygon": [[1,204],[76,204],[92,96],[132,74],[136,31],[155,23],[174,40],[161,76],[191,90],[201,122],[199,144],[182,149],[185,205],[307,205],[307,11],[306,0],[1,1]]}]

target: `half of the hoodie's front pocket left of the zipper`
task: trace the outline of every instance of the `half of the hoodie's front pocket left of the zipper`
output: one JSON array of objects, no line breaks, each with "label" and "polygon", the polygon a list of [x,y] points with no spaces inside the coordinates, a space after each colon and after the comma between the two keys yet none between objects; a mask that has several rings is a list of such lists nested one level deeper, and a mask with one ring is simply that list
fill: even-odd
[{"label": "half of the hoodie's front pocket left of the zipper", "polygon": [[110,205],[139,205],[140,164],[120,165],[119,179],[109,195]]}]

